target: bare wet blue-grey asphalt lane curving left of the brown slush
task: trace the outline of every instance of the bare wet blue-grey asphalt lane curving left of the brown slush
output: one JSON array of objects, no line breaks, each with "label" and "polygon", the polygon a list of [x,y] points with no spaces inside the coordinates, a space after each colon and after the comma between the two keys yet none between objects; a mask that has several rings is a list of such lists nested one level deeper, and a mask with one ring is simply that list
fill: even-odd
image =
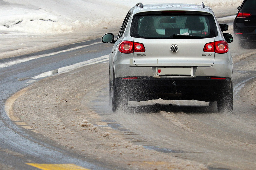
[{"label": "bare wet blue-grey asphalt lane curving left of the brown slush", "polygon": [[[100,48],[101,51],[97,52],[95,48]],[[9,97],[13,93],[50,76],[49,72],[55,75],[68,72],[73,69],[72,66],[78,68],[105,61],[108,56],[104,55],[108,53],[108,48],[100,43],[100,39],[96,39],[44,51],[44,54],[35,53],[0,60],[0,169],[5,168],[4,164],[9,165],[6,169],[35,169],[26,164],[31,162],[74,163],[91,169],[102,169],[79,159],[79,156],[36,140],[27,132],[26,126],[23,126],[25,129],[17,127],[17,124],[24,125],[23,123],[16,120],[14,124],[5,111],[9,111],[9,104],[13,102]],[[9,100],[6,102],[7,98]]]}]

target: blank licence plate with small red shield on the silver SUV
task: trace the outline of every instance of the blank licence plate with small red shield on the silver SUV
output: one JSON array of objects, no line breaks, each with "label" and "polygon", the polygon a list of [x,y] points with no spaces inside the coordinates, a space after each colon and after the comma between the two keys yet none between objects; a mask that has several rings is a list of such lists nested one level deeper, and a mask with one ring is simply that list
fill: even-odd
[{"label": "blank licence plate with small red shield on the silver SUV", "polygon": [[165,76],[190,76],[191,75],[191,67],[183,67],[183,68],[170,68],[170,67],[158,67],[157,75],[165,75]]}]

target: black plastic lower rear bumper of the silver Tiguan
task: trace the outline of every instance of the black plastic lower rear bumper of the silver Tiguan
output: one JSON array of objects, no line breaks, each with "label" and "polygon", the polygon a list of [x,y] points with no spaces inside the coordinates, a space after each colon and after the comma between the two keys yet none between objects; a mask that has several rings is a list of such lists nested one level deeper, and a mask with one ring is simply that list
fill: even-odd
[{"label": "black plastic lower rear bumper of the silver Tiguan", "polygon": [[[125,78],[125,79],[124,79]],[[125,93],[130,101],[152,99],[216,101],[219,95],[230,88],[232,79],[222,80],[210,77],[195,78],[154,78],[154,77],[116,78],[116,89]]]}]

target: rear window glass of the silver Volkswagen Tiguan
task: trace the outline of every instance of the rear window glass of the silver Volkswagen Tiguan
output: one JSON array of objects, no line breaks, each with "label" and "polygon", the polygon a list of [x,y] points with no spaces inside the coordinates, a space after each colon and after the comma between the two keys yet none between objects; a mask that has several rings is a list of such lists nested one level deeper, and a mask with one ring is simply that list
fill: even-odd
[{"label": "rear window glass of the silver Volkswagen Tiguan", "polygon": [[131,37],[149,39],[212,38],[218,35],[212,15],[136,14]]}]

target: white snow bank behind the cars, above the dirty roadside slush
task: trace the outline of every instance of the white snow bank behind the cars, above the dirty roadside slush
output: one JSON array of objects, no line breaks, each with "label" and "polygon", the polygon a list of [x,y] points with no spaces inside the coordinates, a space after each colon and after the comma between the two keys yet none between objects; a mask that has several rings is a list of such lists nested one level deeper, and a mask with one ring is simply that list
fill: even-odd
[{"label": "white snow bank behind the cars, above the dirty roadside slush", "polygon": [[[0,34],[61,34],[90,31],[120,25],[128,9],[138,0],[0,0]],[[143,4],[177,3],[148,0]],[[239,6],[242,0],[206,0],[211,7]],[[201,4],[201,0],[179,3]]]}]

